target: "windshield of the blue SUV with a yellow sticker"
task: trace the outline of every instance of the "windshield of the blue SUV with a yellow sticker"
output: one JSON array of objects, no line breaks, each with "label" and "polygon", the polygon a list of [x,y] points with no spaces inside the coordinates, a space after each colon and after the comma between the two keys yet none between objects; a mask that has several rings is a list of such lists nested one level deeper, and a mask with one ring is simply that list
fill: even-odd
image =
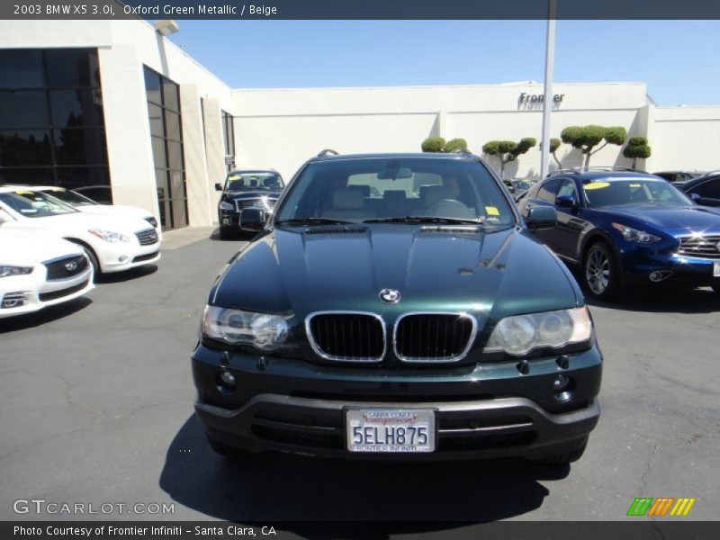
[{"label": "windshield of the blue SUV with a yellow sticker", "polygon": [[656,178],[599,178],[583,184],[585,198],[590,206],[618,206],[628,204],[655,204],[688,206],[693,204],[676,187]]}]

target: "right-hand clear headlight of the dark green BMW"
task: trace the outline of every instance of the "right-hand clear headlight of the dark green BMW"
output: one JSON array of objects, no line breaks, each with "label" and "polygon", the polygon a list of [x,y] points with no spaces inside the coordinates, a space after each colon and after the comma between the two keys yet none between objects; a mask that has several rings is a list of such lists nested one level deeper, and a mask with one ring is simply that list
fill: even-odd
[{"label": "right-hand clear headlight of the dark green BMW", "polygon": [[485,350],[525,355],[534,348],[560,348],[590,339],[592,323],[588,308],[545,311],[506,317],[492,329]]}]

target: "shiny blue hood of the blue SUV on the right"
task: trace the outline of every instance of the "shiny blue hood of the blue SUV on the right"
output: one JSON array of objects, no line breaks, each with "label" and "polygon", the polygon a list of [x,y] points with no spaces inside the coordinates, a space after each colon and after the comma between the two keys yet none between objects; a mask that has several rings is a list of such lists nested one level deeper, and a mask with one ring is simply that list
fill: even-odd
[{"label": "shiny blue hood of the blue SUV on the right", "polygon": [[720,232],[720,211],[706,206],[668,207],[644,204],[613,206],[604,210],[617,217],[629,218],[641,225],[650,225],[673,234],[710,230]]}]

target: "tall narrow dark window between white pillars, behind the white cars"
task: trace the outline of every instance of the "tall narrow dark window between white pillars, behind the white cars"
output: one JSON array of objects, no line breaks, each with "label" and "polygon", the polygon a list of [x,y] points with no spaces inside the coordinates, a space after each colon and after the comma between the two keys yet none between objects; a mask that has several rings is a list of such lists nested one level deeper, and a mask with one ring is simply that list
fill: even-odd
[{"label": "tall narrow dark window between white pillars, behind the white cars", "polygon": [[165,230],[186,227],[187,187],[180,87],[146,66],[145,92],[160,222]]}]

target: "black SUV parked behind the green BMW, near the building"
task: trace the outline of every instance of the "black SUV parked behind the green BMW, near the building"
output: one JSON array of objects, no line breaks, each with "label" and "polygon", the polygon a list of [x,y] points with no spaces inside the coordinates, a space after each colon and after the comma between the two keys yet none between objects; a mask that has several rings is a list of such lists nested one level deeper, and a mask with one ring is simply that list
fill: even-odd
[{"label": "black SUV parked behind the green BMW, near the building", "polygon": [[218,203],[220,238],[240,233],[240,213],[246,208],[272,211],[285,184],[273,170],[235,170],[228,173],[225,184],[215,184],[222,192]]}]

